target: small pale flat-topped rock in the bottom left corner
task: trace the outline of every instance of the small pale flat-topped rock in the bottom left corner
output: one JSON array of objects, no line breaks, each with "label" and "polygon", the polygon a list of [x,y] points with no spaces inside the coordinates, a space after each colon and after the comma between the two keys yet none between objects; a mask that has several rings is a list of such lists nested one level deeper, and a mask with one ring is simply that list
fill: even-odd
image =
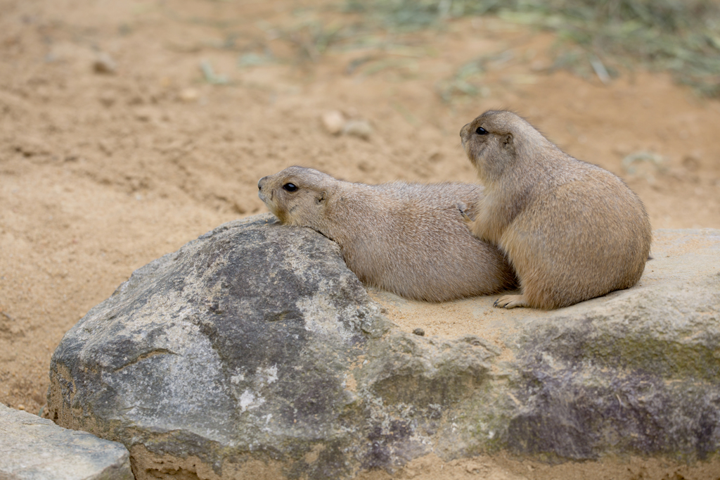
[{"label": "small pale flat-topped rock in the bottom left corner", "polygon": [[0,479],[132,480],[130,455],[117,442],[58,427],[0,404]]}]

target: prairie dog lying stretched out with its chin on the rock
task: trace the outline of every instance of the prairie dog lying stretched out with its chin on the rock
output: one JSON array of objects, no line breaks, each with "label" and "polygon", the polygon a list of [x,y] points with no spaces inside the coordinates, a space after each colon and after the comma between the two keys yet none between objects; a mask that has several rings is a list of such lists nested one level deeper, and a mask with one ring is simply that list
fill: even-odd
[{"label": "prairie dog lying stretched out with its chin on the rock", "polygon": [[261,178],[258,189],[282,223],[336,241],[366,285],[435,302],[516,285],[503,254],[472,236],[458,209],[477,204],[480,185],[364,185],[291,166]]}]

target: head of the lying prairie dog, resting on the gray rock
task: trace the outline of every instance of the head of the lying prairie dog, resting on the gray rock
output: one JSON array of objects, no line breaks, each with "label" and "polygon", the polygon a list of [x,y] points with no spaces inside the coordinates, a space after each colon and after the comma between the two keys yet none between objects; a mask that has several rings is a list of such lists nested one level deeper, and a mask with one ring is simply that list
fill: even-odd
[{"label": "head of the lying prairie dog, resting on the gray rock", "polygon": [[281,223],[318,229],[323,225],[325,208],[336,179],[302,166],[258,181],[258,196]]}]

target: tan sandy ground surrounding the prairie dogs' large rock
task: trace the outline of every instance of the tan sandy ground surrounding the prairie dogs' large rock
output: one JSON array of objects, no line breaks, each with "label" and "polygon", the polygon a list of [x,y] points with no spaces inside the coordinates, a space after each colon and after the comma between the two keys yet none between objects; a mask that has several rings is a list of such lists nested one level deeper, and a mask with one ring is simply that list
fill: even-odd
[{"label": "tan sandy ground surrounding the prairie dogs' large rock", "polygon": [[[554,37],[499,19],[346,35],[358,17],[340,6],[0,0],[0,401],[40,412],[63,334],[136,268],[266,211],[260,177],[300,164],[356,182],[472,182],[459,129],[491,107],[623,177],[653,228],[720,228],[719,100],[642,69],[607,85],[551,72]],[[453,90],[478,58],[477,94]],[[369,138],[328,133],[330,110],[369,123]],[[624,164],[639,152],[654,156]],[[499,454],[395,474],[437,475],[716,479],[720,464]]]}]

